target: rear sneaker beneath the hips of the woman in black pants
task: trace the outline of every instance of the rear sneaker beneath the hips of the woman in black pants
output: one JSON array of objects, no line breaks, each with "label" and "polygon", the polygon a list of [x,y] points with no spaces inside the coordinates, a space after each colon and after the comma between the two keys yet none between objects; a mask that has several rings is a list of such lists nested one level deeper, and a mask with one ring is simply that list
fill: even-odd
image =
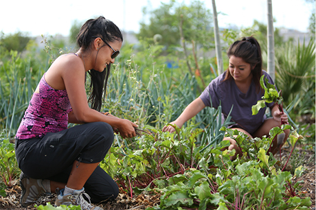
[{"label": "rear sneaker beneath the hips of the woman in black pants", "polygon": [[23,172],[20,175],[20,186],[22,189],[20,203],[27,207],[37,202],[46,191],[42,185],[42,179],[34,179],[26,176]]}]

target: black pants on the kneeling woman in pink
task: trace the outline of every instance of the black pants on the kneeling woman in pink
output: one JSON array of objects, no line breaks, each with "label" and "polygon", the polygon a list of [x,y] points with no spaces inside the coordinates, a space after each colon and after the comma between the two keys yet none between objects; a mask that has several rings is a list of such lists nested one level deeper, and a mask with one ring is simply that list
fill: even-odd
[{"label": "black pants on the kneeling woman in pink", "polygon": [[[99,163],[113,143],[113,129],[104,122],[74,126],[43,138],[16,140],[16,160],[31,178],[67,183],[74,161]],[[79,164],[80,164],[79,163]],[[115,199],[118,187],[100,166],[84,185],[91,202]]]}]

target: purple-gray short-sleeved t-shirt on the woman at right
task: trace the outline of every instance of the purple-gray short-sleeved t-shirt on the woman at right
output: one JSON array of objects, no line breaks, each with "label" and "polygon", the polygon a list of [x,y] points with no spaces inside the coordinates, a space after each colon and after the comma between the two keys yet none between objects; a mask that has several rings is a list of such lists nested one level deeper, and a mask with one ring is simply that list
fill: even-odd
[{"label": "purple-gray short-sleeved t-shirt on the woman at right", "polygon": [[[230,115],[232,121],[237,124],[237,127],[253,134],[253,132],[262,125],[264,119],[266,119],[265,107],[261,108],[257,115],[252,115],[251,110],[251,106],[256,105],[258,100],[262,100],[264,91],[256,93],[256,84],[252,81],[248,92],[242,93],[236,86],[234,79],[223,82],[226,72],[227,71],[212,80],[200,95],[200,98],[205,106],[211,106],[210,96],[212,98],[212,107],[218,108],[221,103],[222,113],[225,117],[227,117],[234,104]],[[262,70],[262,74],[264,74],[265,78],[268,78],[270,84],[274,84],[272,78],[266,71]],[[273,104],[274,103],[266,103],[269,107],[273,106]]]}]

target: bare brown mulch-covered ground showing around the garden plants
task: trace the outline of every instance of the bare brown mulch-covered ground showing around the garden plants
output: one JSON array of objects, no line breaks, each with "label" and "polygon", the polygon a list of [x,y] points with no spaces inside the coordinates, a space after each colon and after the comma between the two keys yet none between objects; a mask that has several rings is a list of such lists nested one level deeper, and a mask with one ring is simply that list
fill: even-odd
[{"label": "bare brown mulch-covered ground showing around the garden plants", "polygon": [[[297,178],[297,181],[304,180],[304,182],[300,184],[301,188],[298,196],[300,196],[301,198],[310,197],[312,202],[310,209],[315,210],[315,153],[313,151],[304,150],[300,146],[297,146],[295,150],[298,150],[297,156],[299,158],[304,158],[303,165],[306,168],[304,174],[300,178]],[[282,149],[281,154],[289,154],[289,149]],[[289,165],[289,170],[291,170],[291,165]],[[7,197],[2,198],[0,196],[0,209],[36,209],[34,205],[31,205],[27,208],[21,207],[19,203],[21,188],[19,187],[17,180],[16,185],[14,185],[10,189],[6,189],[6,191],[8,194]],[[97,206],[102,207],[104,210],[141,210],[146,209],[147,207],[159,205],[160,196],[161,195],[159,194],[141,194],[135,198],[131,198],[126,194],[119,194],[116,200],[107,202],[105,204],[98,204]],[[56,195],[53,194],[52,196],[45,198],[41,202],[38,202],[37,205],[45,205],[46,202],[50,202],[52,205],[54,205],[55,199]]]}]

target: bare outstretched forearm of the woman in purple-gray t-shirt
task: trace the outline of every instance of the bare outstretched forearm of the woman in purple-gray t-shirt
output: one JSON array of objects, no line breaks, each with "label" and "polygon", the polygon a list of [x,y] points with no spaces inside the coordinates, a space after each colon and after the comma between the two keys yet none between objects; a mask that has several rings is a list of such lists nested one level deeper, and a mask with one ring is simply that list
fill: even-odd
[{"label": "bare outstretched forearm of the woman in purple-gray t-shirt", "polygon": [[[181,115],[175,121],[170,122],[170,124],[175,124],[181,128],[186,121],[197,115],[203,108],[205,108],[205,104],[201,98],[198,97],[183,110]],[[162,131],[174,132],[174,128],[172,126],[164,126]]]}]

